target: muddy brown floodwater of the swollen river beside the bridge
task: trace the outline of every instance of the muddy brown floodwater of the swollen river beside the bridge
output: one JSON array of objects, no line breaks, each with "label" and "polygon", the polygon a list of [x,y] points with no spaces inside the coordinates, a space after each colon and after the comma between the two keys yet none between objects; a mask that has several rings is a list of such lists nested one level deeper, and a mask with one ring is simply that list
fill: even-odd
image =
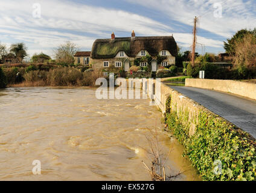
[{"label": "muddy brown floodwater of the swollen river beside the bridge", "polygon": [[[97,100],[95,89],[0,90],[0,180],[150,180],[146,136],[158,130],[173,180],[198,180],[149,100]],[[41,175],[32,165],[40,160]]]}]

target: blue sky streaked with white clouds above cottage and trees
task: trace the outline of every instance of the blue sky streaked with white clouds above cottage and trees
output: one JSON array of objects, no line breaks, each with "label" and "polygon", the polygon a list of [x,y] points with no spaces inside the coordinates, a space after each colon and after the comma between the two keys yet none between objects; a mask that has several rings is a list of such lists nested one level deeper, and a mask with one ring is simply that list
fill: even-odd
[{"label": "blue sky streaked with white clouds above cottage and trees", "polygon": [[24,42],[30,57],[53,57],[71,41],[91,51],[95,39],[171,36],[182,51],[191,49],[198,17],[197,52],[224,52],[223,41],[243,28],[256,27],[255,0],[0,0],[0,42]]}]

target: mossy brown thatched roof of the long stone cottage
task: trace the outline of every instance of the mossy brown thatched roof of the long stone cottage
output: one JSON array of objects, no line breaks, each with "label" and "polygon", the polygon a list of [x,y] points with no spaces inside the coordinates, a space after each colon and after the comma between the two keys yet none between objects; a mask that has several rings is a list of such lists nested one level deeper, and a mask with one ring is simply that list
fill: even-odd
[{"label": "mossy brown thatched roof of the long stone cottage", "polygon": [[116,37],[115,39],[97,39],[92,46],[92,59],[114,58],[118,52],[124,51],[129,57],[136,57],[141,50],[146,50],[155,57],[162,50],[177,55],[177,44],[173,36],[153,37]]}]

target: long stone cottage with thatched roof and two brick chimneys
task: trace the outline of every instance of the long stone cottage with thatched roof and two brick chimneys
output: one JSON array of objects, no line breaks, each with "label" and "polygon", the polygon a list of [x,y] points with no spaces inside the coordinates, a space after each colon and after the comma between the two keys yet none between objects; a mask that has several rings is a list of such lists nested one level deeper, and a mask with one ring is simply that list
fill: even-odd
[{"label": "long stone cottage with thatched roof and two brick chimneys", "polygon": [[[91,62],[94,68],[123,68],[129,71],[134,60],[146,55],[152,57],[152,61],[141,62],[139,66],[150,66],[155,72],[159,66],[175,65],[177,55],[177,44],[173,36],[153,36],[135,37],[115,37],[111,34],[111,39],[97,39],[92,46]],[[165,60],[161,64],[157,63],[156,57],[162,55]]]}]

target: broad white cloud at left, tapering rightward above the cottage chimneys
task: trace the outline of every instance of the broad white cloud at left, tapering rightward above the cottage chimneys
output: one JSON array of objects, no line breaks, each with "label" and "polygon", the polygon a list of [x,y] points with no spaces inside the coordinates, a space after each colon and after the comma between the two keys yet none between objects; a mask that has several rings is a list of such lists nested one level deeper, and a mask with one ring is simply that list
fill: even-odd
[{"label": "broad white cloud at left, tapering rightward above the cottage chimneys", "polygon": [[[107,31],[170,30],[170,27],[138,14],[68,1],[39,1],[40,18],[33,17],[34,1],[0,0],[0,3],[0,33],[28,42],[29,48],[48,49],[48,54],[50,48],[66,40],[91,49],[94,39],[110,37]],[[33,51],[30,49],[29,54]]]}]

